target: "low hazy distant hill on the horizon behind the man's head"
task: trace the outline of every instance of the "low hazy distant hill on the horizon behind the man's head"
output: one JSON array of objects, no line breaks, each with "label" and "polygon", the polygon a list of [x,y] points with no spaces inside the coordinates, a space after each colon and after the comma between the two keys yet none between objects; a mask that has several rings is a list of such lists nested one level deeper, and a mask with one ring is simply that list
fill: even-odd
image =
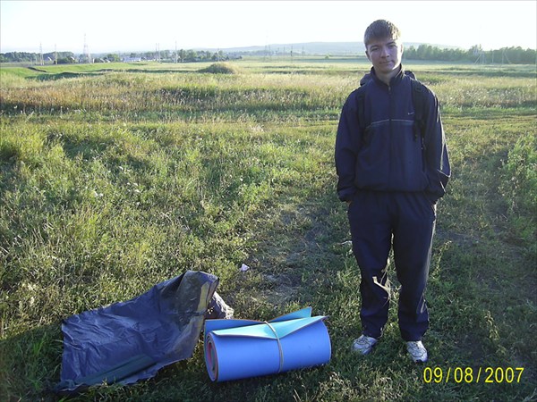
[{"label": "low hazy distant hill on the horizon behind the man's head", "polygon": [[[418,47],[422,43],[405,43],[405,47]],[[439,48],[456,48],[456,46],[433,45]],[[307,42],[307,43],[287,43],[287,44],[271,44],[266,46],[243,46],[243,47],[228,47],[225,49],[200,48],[196,50],[217,51],[222,50],[226,53],[286,53],[293,51],[294,54],[363,54],[365,46],[363,42]]]}]

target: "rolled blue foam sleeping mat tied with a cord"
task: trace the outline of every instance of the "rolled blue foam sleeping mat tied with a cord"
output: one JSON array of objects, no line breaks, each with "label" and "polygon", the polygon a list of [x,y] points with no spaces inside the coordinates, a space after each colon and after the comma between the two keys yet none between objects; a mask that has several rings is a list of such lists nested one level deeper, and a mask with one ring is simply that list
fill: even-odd
[{"label": "rolled blue foam sleeping mat tied with a cord", "polygon": [[205,363],[212,381],[231,381],[327,364],[330,338],[311,307],[269,322],[207,320]]}]

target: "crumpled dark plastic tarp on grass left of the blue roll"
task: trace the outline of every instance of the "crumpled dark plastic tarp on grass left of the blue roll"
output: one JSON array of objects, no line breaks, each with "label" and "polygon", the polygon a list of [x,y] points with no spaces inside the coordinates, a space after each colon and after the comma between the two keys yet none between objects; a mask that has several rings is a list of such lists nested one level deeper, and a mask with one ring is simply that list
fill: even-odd
[{"label": "crumpled dark plastic tarp on grass left of the blue roll", "polygon": [[71,393],[103,382],[129,384],[191,357],[205,318],[231,318],[218,279],[187,271],[139,297],[64,320],[61,381]]}]

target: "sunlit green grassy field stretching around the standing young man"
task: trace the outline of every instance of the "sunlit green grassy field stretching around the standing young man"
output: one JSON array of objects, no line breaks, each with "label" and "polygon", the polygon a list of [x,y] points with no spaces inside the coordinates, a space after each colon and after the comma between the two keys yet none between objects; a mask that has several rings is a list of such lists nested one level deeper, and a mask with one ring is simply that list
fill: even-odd
[{"label": "sunlit green grassy field stretching around the standing young man", "polygon": [[154,379],[75,400],[537,400],[535,66],[405,66],[439,96],[453,170],[425,365],[396,303],[374,353],[349,353],[360,275],[333,147],[366,63],[2,66],[0,400],[58,399],[62,319],[189,269],[218,276],[237,318],[328,315],[330,363],[212,383],[200,341]]}]

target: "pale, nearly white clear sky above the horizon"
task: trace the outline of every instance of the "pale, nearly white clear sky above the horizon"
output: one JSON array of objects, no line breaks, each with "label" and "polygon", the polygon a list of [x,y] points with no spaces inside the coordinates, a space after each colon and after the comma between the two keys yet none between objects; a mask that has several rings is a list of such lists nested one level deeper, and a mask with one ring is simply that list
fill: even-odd
[{"label": "pale, nearly white clear sky above the horizon", "polygon": [[375,20],[404,42],[537,47],[537,1],[0,0],[0,53],[121,53],[361,42]]}]

